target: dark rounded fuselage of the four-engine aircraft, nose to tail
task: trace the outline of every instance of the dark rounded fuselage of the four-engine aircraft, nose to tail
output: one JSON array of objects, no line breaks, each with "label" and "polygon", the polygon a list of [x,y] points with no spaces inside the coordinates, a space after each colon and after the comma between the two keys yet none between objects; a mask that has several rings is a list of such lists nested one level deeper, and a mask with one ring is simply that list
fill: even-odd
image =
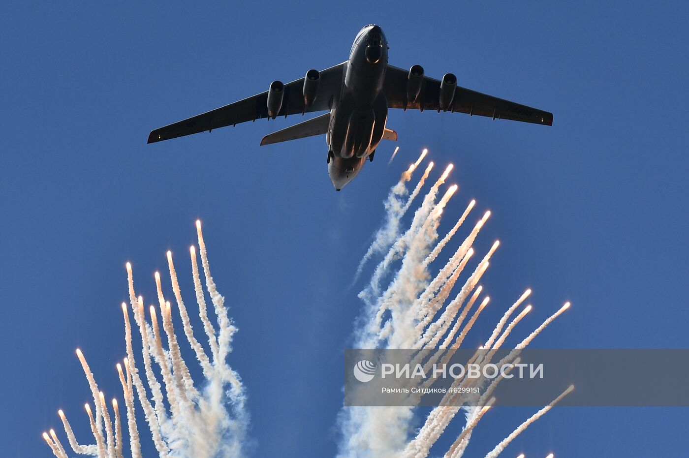
[{"label": "dark rounded fuselage of the four-engine aircraft, nose to tail", "polygon": [[387,63],[387,41],[381,28],[362,28],[349,53],[342,94],[333,100],[326,138],[328,174],[338,191],[358,175],[383,136],[388,105],[382,88]]}]

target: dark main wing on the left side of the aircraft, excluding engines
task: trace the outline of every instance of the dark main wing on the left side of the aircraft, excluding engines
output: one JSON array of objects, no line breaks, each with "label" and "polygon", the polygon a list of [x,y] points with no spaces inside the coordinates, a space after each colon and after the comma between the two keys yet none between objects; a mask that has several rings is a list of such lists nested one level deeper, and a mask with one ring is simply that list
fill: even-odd
[{"label": "dark main wing on the left side of the aircraft, excluding engines", "polygon": [[[340,63],[320,72],[318,94],[310,107],[305,105],[302,94],[304,78],[285,84],[282,107],[280,107],[277,116],[329,110],[333,97],[338,96],[342,89],[344,66],[345,63]],[[218,129],[219,127],[256,121],[256,119],[265,119],[268,117],[267,97],[267,91],[261,92],[224,107],[198,114],[192,118],[166,125],[160,129],[155,129],[148,136],[148,143],[169,140],[169,138],[177,138],[189,134],[198,134],[198,132],[210,132],[212,129]]]}]

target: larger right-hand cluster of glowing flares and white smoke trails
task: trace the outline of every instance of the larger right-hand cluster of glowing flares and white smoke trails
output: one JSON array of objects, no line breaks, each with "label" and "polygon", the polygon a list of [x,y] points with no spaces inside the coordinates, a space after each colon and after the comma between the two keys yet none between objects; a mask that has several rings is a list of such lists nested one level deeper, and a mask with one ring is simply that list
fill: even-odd
[{"label": "larger right-hand cluster of glowing flares and white smoke trails", "polygon": [[[359,294],[366,306],[357,321],[353,346],[355,348],[449,348],[450,351],[443,355],[443,361],[449,360],[456,348],[459,348],[467,333],[471,331],[475,321],[481,311],[486,307],[489,298],[485,297],[477,309],[471,315],[468,322],[464,323],[473,304],[479,298],[483,288],[478,286],[482,275],[489,267],[489,259],[495,253],[499,242],[495,242],[491,249],[486,253],[480,253],[480,257],[471,258],[471,253],[477,249],[474,247],[482,227],[491,216],[490,211],[486,211],[484,216],[473,226],[464,238],[464,241],[454,253],[449,255],[449,260],[440,267],[437,273],[433,273],[433,264],[451,242],[455,233],[460,231],[462,223],[469,215],[469,212],[476,205],[475,200],[471,200],[466,206],[464,213],[457,220],[455,225],[438,242],[438,225],[445,213],[443,209],[455,191],[457,185],[445,189],[442,198],[438,200],[438,191],[448,178],[453,165],[448,165],[440,178],[431,187],[430,191],[424,196],[420,207],[415,211],[409,229],[404,231],[402,226],[402,216],[407,210],[408,205],[400,206],[402,200],[400,196],[408,194],[407,183],[411,179],[411,173],[420,165],[424,159],[424,154],[402,174],[399,183],[391,189],[389,198],[385,203],[387,219],[384,226],[378,231],[374,243],[367,251],[360,263],[356,277],[362,272],[364,263],[375,254],[384,254],[384,249],[389,248],[387,254],[378,266],[374,269],[373,276],[368,282],[367,287]],[[426,169],[426,174],[415,187],[413,196],[417,194],[430,173]],[[393,199],[393,197],[395,197]],[[410,199],[411,200],[411,199]],[[394,204],[394,205],[393,205]],[[411,202],[409,202],[411,204]],[[400,211],[404,209],[404,211]],[[390,224],[393,222],[393,224]],[[384,233],[384,237],[381,234]],[[383,243],[380,243],[383,242]],[[374,249],[375,247],[375,249]],[[472,262],[473,260],[473,262]],[[449,300],[450,293],[455,289],[455,284],[462,284],[457,280],[462,275],[465,265],[473,266],[464,285],[456,294],[453,300]],[[443,264],[441,264],[443,266]],[[356,279],[355,279],[356,280]],[[387,286],[383,283],[389,282]],[[511,306],[509,306],[502,318],[497,322],[493,332],[481,348],[489,351],[480,356],[476,353],[470,362],[487,363],[495,354],[500,346],[504,346],[508,336],[515,333],[520,322],[526,321],[526,315],[532,310],[531,305],[527,305],[520,313],[510,320],[515,314],[516,309],[528,298],[531,289],[527,289],[520,295]],[[466,305],[464,305],[464,302]],[[448,302],[449,301],[449,302]],[[557,312],[553,313],[535,331],[528,334],[519,344],[515,344],[515,350],[511,351],[505,360],[518,361],[518,355],[522,348],[526,347],[531,341],[555,318],[568,309],[567,302]],[[462,326],[464,324],[464,326]],[[524,326],[521,324],[521,326]],[[460,332],[461,329],[461,332]],[[418,357],[423,358],[422,353]],[[437,359],[437,357],[436,357]],[[426,362],[434,362],[433,356]],[[490,395],[495,386],[502,380],[502,377],[495,380],[489,387],[486,394]],[[432,384],[432,380],[424,383]],[[469,379],[457,379],[453,382],[453,387],[463,388],[470,384],[480,384]],[[428,384],[422,385],[428,387]],[[520,425],[511,435],[502,441],[495,450],[489,454],[493,458],[509,441],[522,433],[536,419],[544,415],[559,399],[568,394],[572,387],[562,393],[551,404],[541,409]],[[339,427],[341,440],[339,444],[338,456],[340,457],[414,457],[424,458],[431,454],[431,448],[441,435],[446,433],[453,418],[460,412],[466,410],[466,424],[461,434],[455,436],[453,444],[449,450],[435,450],[433,455],[445,457],[461,457],[464,450],[469,447],[471,433],[474,428],[479,427],[480,420],[488,413],[494,398],[486,400],[487,396],[477,399],[477,405],[461,406],[453,404],[458,399],[458,395],[446,394],[441,406],[431,410],[431,413],[422,422],[419,428],[415,428],[418,419],[418,412],[409,406],[376,406],[376,407],[351,407],[343,408],[339,417]],[[495,410],[495,408],[491,409]],[[413,432],[410,437],[409,433]],[[411,439],[411,440],[410,440]]]}]

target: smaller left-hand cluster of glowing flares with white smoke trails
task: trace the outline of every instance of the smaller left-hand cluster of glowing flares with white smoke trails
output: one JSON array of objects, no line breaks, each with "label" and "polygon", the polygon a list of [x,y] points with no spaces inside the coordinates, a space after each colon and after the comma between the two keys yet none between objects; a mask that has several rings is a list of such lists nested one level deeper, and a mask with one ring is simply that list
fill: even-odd
[{"label": "smaller left-hand cluster of glowing flares with white smoke trails", "polygon": [[[172,305],[165,300],[161,287],[161,275],[156,272],[156,290],[161,319],[158,311],[150,306],[150,322],[145,320],[143,298],[136,296],[132,265],[127,262],[127,282],[130,292],[130,302],[136,326],[141,335],[141,357],[145,367],[146,388],[139,375],[132,344],[132,326],[127,304],[122,304],[125,325],[125,350],[127,357],[124,364],[116,364],[116,376],[122,386],[123,399],[126,410],[121,412],[117,399],[112,399],[112,415],[105,395],[99,391],[86,357],[80,349],[76,356],[81,362],[93,397],[91,404],[85,404],[88,421],[95,444],[81,445],[76,440],[72,427],[63,410],[58,414],[65,429],[68,442],[78,455],[90,455],[98,458],[141,458],[141,443],[139,439],[136,410],[141,408],[154,445],[161,457],[240,457],[243,456],[247,444],[246,435],[249,416],[245,411],[244,387],[238,375],[227,364],[232,335],[236,331],[234,323],[227,315],[224,298],[216,289],[207,258],[203,233],[200,222],[196,222],[198,246],[203,264],[207,293],[218,318],[218,331],[209,320],[206,310],[205,293],[201,287],[196,260],[196,250],[190,250],[192,255],[192,276],[196,293],[196,302],[203,330],[208,338],[208,347],[212,358],[205,353],[203,345],[194,337],[192,324],[187,309],[182,300],[182,293],[177,281],[177,273],[172,262],[172,253],[167,252],[172,290],[183,323],[183,331],[189,346],[196,355],[196,360],[203,370],[203,382],[194,383],[185,360],[181,356],[180,347],[172,326]],[[163,330],[159,322],[162,322]],[[164,348],[163,335],[167,337],[167,349]],[[163,377],[163,384],[158,382],[153,364],[157,364],[158,372]],[[123,371],[123,366],[125,371]],[[134,391],[138,395],[139,405],[135,404]],[[168,411],[169,409],[169,411]],[[126,419],[123,419],[123,416]],[[123,430],[122,423],[126,421],[127,428]],[[125,444],[124,433],[128,446]],[[50,430],[43,433],[53,455],[67,458],[59,438]]]}]

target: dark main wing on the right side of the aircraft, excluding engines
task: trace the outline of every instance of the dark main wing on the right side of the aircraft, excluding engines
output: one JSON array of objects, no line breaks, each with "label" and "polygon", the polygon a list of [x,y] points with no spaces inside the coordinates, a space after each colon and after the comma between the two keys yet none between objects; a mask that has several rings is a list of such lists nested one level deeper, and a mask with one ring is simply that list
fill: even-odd
[{"label": "dark main wing on the right side of the aircraft, excluding engines", "polygon": [[[388,107],[414,110],[439,110],[440,80],[423,77],[421,92],[415,101],[407,101],[407,78],[409,72],[399,67],[388,65],[385,72],[383,91],[387,97]],[[524,123],[553,125],[553,114],[527,107],[502,98],[481,94],[480,92],[455,87],[455,94],[448,111],[469,115],[489,116],[493,119],[510,119]]]}]

